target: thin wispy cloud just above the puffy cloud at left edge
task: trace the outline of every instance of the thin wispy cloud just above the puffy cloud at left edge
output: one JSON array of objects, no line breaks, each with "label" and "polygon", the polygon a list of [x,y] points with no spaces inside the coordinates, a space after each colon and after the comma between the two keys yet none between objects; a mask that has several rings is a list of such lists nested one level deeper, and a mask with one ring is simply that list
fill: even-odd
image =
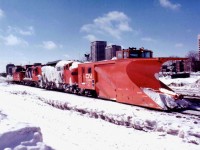
[{"label": "thin wispy cloud just above the puffy cloud at left edge", "polygon": [[12,26],[8,26],[8,33],[19,33],[21,35],[33,35],[35,33],[34,31],[34,27],[33,26],[28,26],[25,29],[21,29],[18,27],[12,27]]}]

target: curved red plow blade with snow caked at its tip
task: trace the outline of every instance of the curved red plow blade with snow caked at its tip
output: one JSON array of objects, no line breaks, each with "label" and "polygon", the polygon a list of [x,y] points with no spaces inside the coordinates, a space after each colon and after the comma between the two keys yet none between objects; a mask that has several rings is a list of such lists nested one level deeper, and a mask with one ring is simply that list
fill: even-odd
[{"label": "curved red plow blade with snow caked at its tip", "polygon": [[119,62],[116,100],[161,110],[187,107],[187,102],[181,96],[156,77],[162,64],[169,60],[184,60],[184,58],[128,59]]}]

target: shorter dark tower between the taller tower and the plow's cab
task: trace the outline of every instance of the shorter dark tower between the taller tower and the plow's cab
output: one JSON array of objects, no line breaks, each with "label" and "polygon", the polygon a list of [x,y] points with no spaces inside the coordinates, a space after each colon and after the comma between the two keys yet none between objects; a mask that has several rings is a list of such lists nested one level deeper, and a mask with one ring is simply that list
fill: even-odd
[{"label": "shorter dark tower between the taller tower and the plow's cab", "polygon": [[116,57],[116,51],[121,50],[121,46],[119,45],[110,45],[106,47],[106,56],[105,59],[109,60],[112,59],[113,57]]}]

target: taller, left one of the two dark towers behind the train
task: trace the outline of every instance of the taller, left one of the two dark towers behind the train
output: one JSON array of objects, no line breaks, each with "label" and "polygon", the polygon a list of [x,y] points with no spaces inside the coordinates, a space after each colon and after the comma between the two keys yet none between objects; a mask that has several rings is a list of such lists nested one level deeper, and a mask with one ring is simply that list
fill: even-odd
[{"label": "taller, left one of the two dark towers behind the train", "polygon": [[106,41],[91,42],[91,59],[92,61],[105,60]]}]

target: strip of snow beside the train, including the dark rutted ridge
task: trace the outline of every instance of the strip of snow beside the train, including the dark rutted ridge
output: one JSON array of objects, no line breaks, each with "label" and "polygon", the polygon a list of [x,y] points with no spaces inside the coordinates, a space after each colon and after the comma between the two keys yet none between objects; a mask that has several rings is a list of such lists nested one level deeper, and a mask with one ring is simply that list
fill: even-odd
[{"label": "strip of snow beside the train, including the dark rutted ridge", "polygon": [[[13,89],[15,88],[13,87]],[[38,91],[38,89],[28,89],[24,86],[20,86],[20,90],[15,89],[10,93],[21,95],[27,99],[32,97],[35,100],[40,100],[61,110],[68,110],[71,113],[79,113],[90,118],[101,119],[112,124],[145,132],[174,135],[188,143],[200,144],[200,131],[198,130],[200,121],[195,116],[191,119],[191,116],[180,113],[167,114],[111,101],[53,91]]]}]

